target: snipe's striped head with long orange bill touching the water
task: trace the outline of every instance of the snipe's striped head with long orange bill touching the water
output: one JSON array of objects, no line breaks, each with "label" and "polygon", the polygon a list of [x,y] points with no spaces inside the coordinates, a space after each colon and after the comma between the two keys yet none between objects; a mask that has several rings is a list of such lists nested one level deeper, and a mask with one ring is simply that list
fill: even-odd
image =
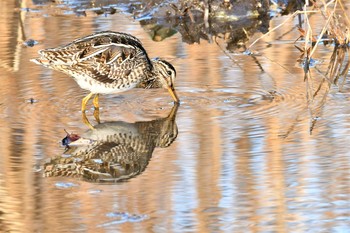
[{"label": "snipe's striped head with long orange bill touching the water", "polygon": [[176,103],[180,102],[179,97],[177,97],[176,91],[175,91],[175,77],[176,77],[176,70],[174,66],[172,66],[169,62],[155,58],[153,61],[153,67],[156,74],[156,82],[158,82],[164,89],[167,89],[173,97],[174,101]]}]

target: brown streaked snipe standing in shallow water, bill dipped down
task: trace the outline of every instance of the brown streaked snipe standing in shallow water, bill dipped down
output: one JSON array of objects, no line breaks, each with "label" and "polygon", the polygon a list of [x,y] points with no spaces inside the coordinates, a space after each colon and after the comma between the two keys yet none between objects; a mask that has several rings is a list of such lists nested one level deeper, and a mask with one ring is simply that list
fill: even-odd
[{"label": "brown streaked snipe standing in shallow water, bill dipped down", "polygon": [[86,111],[93,98],[99,108],[100,94],[115,94],[132,88],[165,88],[174,102],[180,102],[175,91],[176,70],[168,61],[150,59],[136,37],[113,31],[97,32],[56,48],[39,50],[32,62],[63,72],[90,93],[82,100]]}]

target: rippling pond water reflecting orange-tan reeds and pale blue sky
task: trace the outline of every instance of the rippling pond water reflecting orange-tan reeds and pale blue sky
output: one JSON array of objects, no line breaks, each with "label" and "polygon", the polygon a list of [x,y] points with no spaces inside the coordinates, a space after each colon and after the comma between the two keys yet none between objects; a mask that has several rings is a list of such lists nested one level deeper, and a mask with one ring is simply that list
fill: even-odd
[{"label": "rippling pond water reflecting orange-tan reeds and pale blue sky", "polygon": [[[277,31],[252,57],[179,33],[155,42],[130,15],[65,7],[1,2],[1,232],[350,232],[349,86],[327,95],[310,134],[300,54],[279,43],[297,32],[277,40]],[[101,30],[131,33],[170,60],[180,107],[164,90],[102,96],[91,131],[79,111],[87,93],[29,59]],[[126,153],[89,157],[84,143],[67,152],[64,129]]]}]

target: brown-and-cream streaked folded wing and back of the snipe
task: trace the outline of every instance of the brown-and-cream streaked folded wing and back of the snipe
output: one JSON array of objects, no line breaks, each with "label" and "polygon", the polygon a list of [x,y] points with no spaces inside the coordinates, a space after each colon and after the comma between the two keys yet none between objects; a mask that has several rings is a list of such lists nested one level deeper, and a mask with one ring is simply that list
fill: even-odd
[{"label": "brown-and-cream streaked folded wing and back of the snipe", "polygon": [[102,82],[126,78],[139,66],[152,69],[141,42],[128,34],[101,32],[67,45],[39,51],[34,62],[68,74],[83,73]]}]

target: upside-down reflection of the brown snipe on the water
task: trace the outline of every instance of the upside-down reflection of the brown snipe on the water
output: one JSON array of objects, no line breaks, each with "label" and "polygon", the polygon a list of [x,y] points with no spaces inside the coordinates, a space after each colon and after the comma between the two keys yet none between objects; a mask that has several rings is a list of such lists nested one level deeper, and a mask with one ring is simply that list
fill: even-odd
[{"label": "upside-down reflection of the brown snipe on the water", "polygon": [[168,147],[176,139],[177,109],[175,104],[167,117],[152,121],[116,121],[94,126],[82,135],[83,143],[49,159],[44,164],[44,176],[113,183],[139,175],[147,167],[154,148]]}]

